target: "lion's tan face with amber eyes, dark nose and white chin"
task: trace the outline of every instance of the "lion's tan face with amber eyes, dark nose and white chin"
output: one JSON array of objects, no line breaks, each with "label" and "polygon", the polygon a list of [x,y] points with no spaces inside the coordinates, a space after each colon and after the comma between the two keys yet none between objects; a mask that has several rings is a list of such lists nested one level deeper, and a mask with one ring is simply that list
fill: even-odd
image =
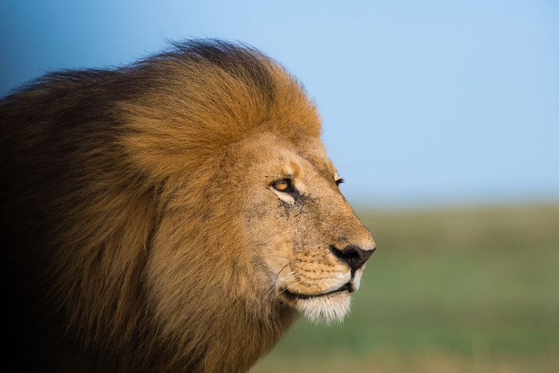
[{"label": "lion's tan face with amber eyes, dark nose and white chin", "polygon": [[323,145],[263,135],[240,152],[250,159],[240,167],[252,188],[245,228],[261,295],[313,321],[341,320],[375,242],[340,193]]}]

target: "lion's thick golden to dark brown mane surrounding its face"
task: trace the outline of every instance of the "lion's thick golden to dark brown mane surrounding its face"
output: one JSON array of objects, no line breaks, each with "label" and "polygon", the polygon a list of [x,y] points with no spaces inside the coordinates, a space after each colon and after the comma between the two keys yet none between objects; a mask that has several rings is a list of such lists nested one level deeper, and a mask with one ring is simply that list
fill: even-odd
[{"label": "lion's thick golden to dark brown mane surrounding its face", "polygon": [[252,300],[242,198],[217,177],[251,136],[319,137],[275,61],[187,41],[45,75],[0,101],[0,123],[11,363],[242,371],[289,327],[293,312]]}]

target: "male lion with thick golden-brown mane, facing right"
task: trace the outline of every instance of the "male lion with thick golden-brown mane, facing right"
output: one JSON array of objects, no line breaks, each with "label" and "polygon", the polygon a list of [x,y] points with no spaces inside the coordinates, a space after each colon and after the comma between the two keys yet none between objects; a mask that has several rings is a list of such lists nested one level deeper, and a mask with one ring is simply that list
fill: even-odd
[{"label": "male lion with thick golden-brown mane, facing right", "polygon": [[48,73],[0,123],[17,370],[245,372],[298,315],[341,321],[375,251],[315,104],[253,47]]}]

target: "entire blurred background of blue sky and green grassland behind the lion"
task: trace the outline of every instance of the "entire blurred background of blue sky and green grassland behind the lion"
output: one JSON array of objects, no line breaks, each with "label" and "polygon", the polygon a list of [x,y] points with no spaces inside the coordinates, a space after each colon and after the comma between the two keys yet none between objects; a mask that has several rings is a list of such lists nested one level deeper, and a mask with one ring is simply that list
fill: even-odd
[{"label": "entire blurred background of blue sky and green grassland behind the lion", "polygon": [[254,372],[559,370],[557,1],[5,0],[0,33],[1,95],[206,37],[303,82],[379,249]]}]

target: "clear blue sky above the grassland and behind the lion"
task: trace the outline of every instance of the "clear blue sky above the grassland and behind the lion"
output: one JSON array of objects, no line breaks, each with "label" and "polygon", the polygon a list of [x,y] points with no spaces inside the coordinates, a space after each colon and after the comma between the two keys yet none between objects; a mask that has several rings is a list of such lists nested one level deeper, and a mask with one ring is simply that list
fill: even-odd
[{"label": "clear blue sky above the grassland and behind the lion", "polygon": [[0,94],[167,39],[244,41],[317,102],[350,201],[559,201],[557,1],[4,0],[0,33]]}]

